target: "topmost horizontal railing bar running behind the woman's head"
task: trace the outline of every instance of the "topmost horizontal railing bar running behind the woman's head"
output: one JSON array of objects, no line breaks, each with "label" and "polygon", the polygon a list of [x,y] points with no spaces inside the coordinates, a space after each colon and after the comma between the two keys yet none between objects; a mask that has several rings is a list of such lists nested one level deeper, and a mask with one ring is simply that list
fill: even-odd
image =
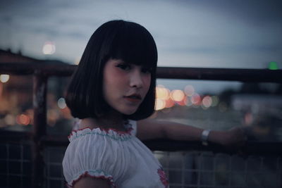
[{"label": "topmost horizontal railing bar running behind the woman's head", "polygon": [[[77,65],[61,63],[0,63],[0,74],[32,75],[38,71],[49,76],[71,76]],[[282,83],[282,70],[243,68],[158,67],[157,77],[165,79],[224,80]]]}]

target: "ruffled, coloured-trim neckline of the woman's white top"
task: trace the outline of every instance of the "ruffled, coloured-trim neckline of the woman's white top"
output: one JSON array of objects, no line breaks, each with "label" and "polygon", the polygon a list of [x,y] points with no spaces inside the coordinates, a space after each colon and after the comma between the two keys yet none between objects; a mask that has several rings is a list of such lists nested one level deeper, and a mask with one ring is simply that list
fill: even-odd
[{"label": "ruffled, coloured-trim neckline of the woman's white top", "polygon": [[91,129],[90,127],[83,127],[78,130],[73,130],[71,134],[68,135],[68,140],[72,142],[74,139],[85,136],[87,134],[97,134],[100,136],[110,137],[111,139],[124,141],[124,140],[130,139],[131,137],[133,137],[133,134],[132,134],[133,126],[127,120],[124,123],[124,127],[125,127],[125,131],[116,130],[113,128],[104,129],[101,127],[97,127],[97,128]]}]

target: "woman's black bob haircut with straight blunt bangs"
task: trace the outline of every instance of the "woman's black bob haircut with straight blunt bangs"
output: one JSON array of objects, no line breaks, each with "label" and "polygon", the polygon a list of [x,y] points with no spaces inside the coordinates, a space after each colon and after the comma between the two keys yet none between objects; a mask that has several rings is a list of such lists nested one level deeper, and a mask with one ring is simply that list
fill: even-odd
[{"label": "woman's black bob haircut with straight blunt bangs", "polygon": [[74,118],[98,118],[111,108],[102,92],[103,70],[110,58],[143,65],[152,70],[151,84],[137,111],[124,115],[141,120],[154,113],[157,46],[152,35],[137,23],[111,20],[93,33],[73,73],[66,92],[66,104]]}]

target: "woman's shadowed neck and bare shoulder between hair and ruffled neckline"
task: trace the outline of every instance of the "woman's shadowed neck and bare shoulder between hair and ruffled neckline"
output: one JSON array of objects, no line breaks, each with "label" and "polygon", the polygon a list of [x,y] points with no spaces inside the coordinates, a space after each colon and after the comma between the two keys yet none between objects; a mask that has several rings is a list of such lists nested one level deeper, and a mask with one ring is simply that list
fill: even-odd
[{"label": "woman's shadowed neck and bare shoulder between hair and ruffled neckline", "polygon": [[84,118],[80,122],[80,128],[90,127],[103,128],[103,129],[115,129],[125,131],[123,125],[123,115],[121,113],[107,113],[99,118]]}]

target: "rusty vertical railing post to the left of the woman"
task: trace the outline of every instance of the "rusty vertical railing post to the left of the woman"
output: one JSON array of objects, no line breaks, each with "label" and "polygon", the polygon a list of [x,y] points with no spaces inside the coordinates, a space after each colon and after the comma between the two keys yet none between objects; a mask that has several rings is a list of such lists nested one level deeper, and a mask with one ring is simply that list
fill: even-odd
[{"label": "rusty vertical railing post to the left of the woman", "polygon": [[33,77],[33,145],[32,145],[32,188],[44,185],[44,156],[41,139],[47,129],[47,76],[35,71]]}]

